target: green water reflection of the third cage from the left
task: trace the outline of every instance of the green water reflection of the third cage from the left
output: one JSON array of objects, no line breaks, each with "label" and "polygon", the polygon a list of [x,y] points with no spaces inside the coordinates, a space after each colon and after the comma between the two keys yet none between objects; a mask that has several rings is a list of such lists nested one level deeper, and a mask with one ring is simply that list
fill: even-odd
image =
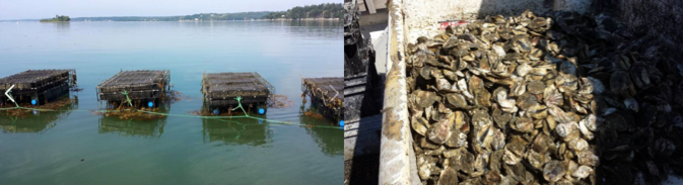
[{"label": "green water reflection of the third cage from the left", "polygon": [[262,146],[273,142],[273,131],[266,121],[251,118],[205,118],[201,119],[201,127],[204,143]]}]

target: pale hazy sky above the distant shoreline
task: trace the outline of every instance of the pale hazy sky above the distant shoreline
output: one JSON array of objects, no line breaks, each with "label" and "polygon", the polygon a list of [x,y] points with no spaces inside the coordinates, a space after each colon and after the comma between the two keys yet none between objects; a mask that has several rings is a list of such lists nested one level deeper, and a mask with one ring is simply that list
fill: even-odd
[{"label": "pale hazy sky above the distant shoreline", "polygon": [[342,0],[0,0],[0,20],[285,11]]}]

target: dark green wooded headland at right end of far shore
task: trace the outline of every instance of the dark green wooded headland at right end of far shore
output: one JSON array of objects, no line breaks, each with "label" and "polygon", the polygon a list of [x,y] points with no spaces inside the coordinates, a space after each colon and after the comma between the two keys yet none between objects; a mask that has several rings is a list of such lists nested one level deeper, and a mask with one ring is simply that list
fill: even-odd
[{"label": "dark green wooded headland at right end of far shore", "polygon": [[285,12],[273,12],[263,18],[342,18],[343,15],[344,7],[342,3],[322,3],[320,5],[307,5],[304,7],[297,6]]}]

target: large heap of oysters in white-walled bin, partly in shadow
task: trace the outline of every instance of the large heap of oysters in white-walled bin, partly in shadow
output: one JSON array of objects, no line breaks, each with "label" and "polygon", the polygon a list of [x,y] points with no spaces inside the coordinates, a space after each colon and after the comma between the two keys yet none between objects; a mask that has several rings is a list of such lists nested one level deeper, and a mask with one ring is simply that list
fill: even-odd
[{"label": "large heap of oysters in white-walled bin, partly in shadow", "polygon": [[643,28],[494,16],[408,44],[425,184],[632,184],[683,172],[683,65]]}]

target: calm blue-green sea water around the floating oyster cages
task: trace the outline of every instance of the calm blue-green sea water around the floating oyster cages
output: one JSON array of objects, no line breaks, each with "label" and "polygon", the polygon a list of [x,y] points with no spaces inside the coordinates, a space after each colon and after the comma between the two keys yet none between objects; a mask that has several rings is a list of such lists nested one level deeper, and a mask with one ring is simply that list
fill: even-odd
[{"label": "calm blue-green sea water around the floating oyster cages", "polygon": [[[76,69],[84,90],[70,110],[97,110],[95,86],[120,70],[169,69],[185,97],[169,114],[201,108],[201,74],[256,71],[294,106],[268,119],[330,126],[303,116],[301,76],[341,77],[337,21],[0,23],[0,77]],[[169,116],[156,121],[89,112],[0,116],[0,184],[341,184],[341,129],[251,119]],[[83,161],[81,161],[83,159]]]}]

